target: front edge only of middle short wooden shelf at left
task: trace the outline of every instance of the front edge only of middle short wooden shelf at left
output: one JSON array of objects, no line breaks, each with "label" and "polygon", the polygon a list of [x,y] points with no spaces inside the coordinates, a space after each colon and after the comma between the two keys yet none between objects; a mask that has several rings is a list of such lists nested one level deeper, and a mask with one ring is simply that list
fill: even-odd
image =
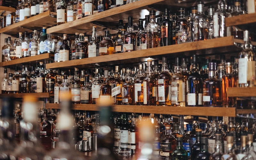
[{"label": "front edge only of middle short wooden shelf at left", "polygon": [[50,53],[44,53],[44,54],[20,58],[20,59],[16,59],[16,60],[10,60],[7,62],[0,62],[0,67],[11,66],[11,65],[16,65],[16,64],[21,64],[21,63],[28,63],[28,62],[33,62],[33,61],[37,61],[37,60],[49,59],[52,56],[54,56],[54,55],[50,54]]}]

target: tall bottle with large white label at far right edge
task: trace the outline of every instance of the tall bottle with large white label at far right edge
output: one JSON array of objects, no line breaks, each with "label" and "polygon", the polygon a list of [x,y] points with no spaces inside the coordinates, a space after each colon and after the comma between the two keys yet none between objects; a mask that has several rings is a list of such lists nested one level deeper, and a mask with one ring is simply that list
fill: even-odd
[{"label": "tall bottle with large white label at far right edge", "polygon": [[244,46],[238,57],[238,84],[239,87],[255,86],[255,53],[252,51],[249,31],[244,31]]}]

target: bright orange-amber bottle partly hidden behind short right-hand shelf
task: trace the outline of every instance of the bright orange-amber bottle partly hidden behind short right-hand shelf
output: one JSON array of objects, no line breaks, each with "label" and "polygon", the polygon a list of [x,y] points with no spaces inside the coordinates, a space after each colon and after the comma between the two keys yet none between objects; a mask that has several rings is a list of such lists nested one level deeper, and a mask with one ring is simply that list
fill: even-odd
[{"label": "bright orange-amber bottle partly hidden behind short right-hand shelf", "polygon": [[233,63],[226,63],[226,74],[222,77],[221,97],[223,107],[235,107],[236,97],[228,97],[228,87],[236,87],[237,76],[233,74]]}]

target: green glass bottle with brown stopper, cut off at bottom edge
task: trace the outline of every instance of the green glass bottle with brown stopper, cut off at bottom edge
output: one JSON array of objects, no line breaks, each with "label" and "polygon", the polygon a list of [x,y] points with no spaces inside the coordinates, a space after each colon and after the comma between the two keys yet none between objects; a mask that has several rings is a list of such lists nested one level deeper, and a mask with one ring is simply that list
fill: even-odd
[{"label": "green glass bottle with brown stopper, cut off at bottom edge", "polygon": [[183,136],[178,134],[177,147],[172,151],[172,160],[188,160],[188,152],[182,147]]}]

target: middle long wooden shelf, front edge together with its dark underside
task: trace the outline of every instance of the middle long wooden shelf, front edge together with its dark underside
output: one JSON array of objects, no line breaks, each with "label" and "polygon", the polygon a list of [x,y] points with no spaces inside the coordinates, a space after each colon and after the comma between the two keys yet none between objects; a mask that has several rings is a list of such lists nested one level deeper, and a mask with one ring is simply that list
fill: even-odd
[{"label": "middle long wooden shelf, front edge together with its dark underside", "polygon": [[116,64],[131,65],[138,62],[145,62],[147,59],[161,59],[162,56],[191,56],[192,54],[205,55],[223,52],[239,52],[241,48],[234,45],[234,37],[222,37],[198,42],[175,44],[157,48],[150,48],[140,51],[117,53],[98,57],[84,58],[79,60],[69,60],[46,64],[46,68],[88,68],[92,66],[111,66]]}]

